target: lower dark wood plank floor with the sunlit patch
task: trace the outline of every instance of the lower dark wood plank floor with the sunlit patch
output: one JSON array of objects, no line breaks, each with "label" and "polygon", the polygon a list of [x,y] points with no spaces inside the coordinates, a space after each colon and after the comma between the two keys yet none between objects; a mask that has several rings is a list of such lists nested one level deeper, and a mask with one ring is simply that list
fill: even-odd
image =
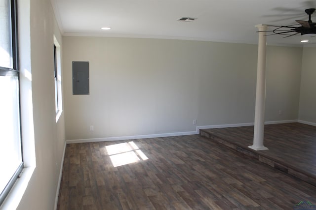
[{"label": "lower dark wood plank floor with the sunlit patch", "polygon": [[191,135],[67,145],[57,209],[290,210],[300,201],[316,204],[316,187]]}]

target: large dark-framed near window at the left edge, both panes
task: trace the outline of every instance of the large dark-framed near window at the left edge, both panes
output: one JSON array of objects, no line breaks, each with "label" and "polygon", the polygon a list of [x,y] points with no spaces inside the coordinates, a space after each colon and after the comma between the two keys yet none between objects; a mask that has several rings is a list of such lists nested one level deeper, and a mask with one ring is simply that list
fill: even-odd
[{"label": "large dark-framed near window at the left edge, both panes", "polygon": [[16,0],[0,0],[0,204],[23,169]]}]

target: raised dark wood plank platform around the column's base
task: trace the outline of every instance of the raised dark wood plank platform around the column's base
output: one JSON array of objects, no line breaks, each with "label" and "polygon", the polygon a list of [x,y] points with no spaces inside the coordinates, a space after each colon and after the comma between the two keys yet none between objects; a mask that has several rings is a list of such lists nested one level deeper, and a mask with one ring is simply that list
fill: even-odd
[{"label": "raised dark wood plank platform around the column's base", "polygon": [[265,125],[264,145],[269,150],[262,151],[247,148],[253,143],[253,126],[205,129],[200,133],[316,185],[315,126],[302,123]]}]

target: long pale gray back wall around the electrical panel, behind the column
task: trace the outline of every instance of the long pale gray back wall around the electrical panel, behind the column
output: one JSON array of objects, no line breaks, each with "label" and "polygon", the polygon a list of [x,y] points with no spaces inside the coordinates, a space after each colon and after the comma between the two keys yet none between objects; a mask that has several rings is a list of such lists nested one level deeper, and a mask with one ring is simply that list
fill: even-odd
[{"label": "long pale gray back wall around the electrical panel, behind the column", "polygon": [[[254,120],[257,45],[68,36],[63,44],[68,140]],[[266,120],[298,118],[301,57],[302,48],[268,47]],[[72,61],[90,62],[90,95],[72,95]]]}]

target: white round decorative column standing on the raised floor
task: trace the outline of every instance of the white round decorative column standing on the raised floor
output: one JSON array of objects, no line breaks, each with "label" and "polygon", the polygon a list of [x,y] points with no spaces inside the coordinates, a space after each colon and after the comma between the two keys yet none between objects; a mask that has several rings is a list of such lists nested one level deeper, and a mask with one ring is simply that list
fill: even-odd
[{"label": "white round decorative column standing on the raised floor", "polygon": [[[259,31],[267,30],[266,25],[256,25]],[[257,64],[257,88],[255,126],[253,132],[253,145],[248,148],[252,150],[268,150],[263,145],[265,129],[265,99],[266,99],[266,32],[259,32],[258,64]]]}]

